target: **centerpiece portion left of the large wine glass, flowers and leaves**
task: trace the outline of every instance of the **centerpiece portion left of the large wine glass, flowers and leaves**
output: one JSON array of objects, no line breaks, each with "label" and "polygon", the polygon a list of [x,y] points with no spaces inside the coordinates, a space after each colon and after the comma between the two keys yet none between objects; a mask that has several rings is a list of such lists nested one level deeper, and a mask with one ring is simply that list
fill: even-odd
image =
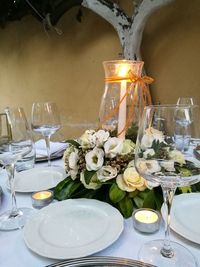
[{"label": "centerpiece portion left of the large wine glass, flowers and leaves", "polygon": [[133,141],[111,137],[104,130],[87,130],[68,143],[63,159],[69,176],[55,188],[56,199],[99,199],[118,208],[126,218],[134,208],[160,208],[160,189],[150,190],[134,167]]}]

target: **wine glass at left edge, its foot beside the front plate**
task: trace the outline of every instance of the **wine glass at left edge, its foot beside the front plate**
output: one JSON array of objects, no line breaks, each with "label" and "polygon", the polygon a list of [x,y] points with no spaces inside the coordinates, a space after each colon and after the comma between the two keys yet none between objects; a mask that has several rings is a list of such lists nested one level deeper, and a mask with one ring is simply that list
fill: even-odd
[{"label": "wine glass at left edge, its foot beside the front plate", "polygon": [[14,230],[23,227],[33,211],[29,208],[18,209],[14,188],[16,162],[32,150],[33,142],[23,108],[6,108],[5,114],[8,124],[2,124],[2,127],[6,127],[5,132],[9,129],[9,135],[7,138],[0,135],[0,164],[7,171],[12,208],[0,215],[0,229]]}]

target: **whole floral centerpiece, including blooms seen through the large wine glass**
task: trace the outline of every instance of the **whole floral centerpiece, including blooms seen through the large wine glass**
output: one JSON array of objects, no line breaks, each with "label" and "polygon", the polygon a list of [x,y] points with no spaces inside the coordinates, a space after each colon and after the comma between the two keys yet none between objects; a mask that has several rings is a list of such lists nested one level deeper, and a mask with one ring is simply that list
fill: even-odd
[{"label": "whole floral centerpiece, including blooms seen through the large wine glass", "polygon": [[[57,200],[68,198],[95,198],[116,207],[125,218],[135,208],[160,209],[163,197],[157,183],[147,182],[134,166],[135,143],[110,136],[108,131],[87,130],[78,140],[69,140],[64,152],[67,178],[60,182],[54,196]],[[181,152],[164,141],[163,133],[151,127],[142,140],[142,164],[144,173],[176,171],[188,176],[199,172],[192,163],[186,162]],[[154,160],[170,158],[171,163],[158,165]],[[164,164],[164,163],[163,163]],[[140,166],[141,169],[141,166]],[[190,175],[189,173],[189,175]],[[198,184],[197,184],[198,186]],[[191,187],[179,189],[191,191]]]}]

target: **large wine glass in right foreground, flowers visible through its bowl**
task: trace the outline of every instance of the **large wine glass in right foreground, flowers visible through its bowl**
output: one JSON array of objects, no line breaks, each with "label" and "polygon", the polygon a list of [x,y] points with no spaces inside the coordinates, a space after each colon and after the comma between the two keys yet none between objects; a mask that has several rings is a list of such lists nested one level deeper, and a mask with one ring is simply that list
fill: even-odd
[{"label": "large wine glass in right foreground, flowers visible through its bowl", "polygon": [[147,181],[161,185],[165,211],[165,239],[144,244],[138,257],[159,267],[197,266],[189,250],[178,243],[170,242],[170,210],[176,188],[197,183],[200,177],[200,169],[193,162],[195,160],[192,151],[190,156],[186,157],[176,147],[174,133],[178,114],[181,114],[185,121],[188,114],[192,115],[191,136],[199,138],[198,106],[148,106],[144,109],[136,143],[136,169]]}]

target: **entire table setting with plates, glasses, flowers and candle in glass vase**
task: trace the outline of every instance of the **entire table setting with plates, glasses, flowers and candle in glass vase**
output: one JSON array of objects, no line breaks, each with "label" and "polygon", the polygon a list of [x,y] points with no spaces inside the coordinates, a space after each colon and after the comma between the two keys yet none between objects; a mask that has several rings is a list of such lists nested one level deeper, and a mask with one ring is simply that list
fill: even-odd
[{"label": "entire table setting with plates, glasses, flowers and candle in glass vase", "polygon": [[104,67],[115,96],[78,138],[50,141],[53,102],[33,104],[31,127],[5,109],[0,266],[199,266],[199,106],[151,105],[142,62]]}]

